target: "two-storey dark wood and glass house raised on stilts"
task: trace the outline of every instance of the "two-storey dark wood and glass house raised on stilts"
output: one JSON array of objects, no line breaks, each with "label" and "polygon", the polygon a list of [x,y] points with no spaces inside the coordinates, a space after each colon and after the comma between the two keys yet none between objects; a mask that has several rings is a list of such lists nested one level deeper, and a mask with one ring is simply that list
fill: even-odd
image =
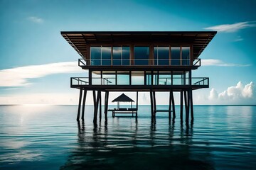
[{"label": "two-storey dark wood and glass house raised on stilts", "polygon": [[[192,90],[208,88],[209,79],[192,77],[192,70],[201,66],[198,57],[215,34],[215,31],[61,32],[82,57],[79,66],[89,73],[88,77],[71,78],[71,87],[80,89],[80,104],[82,91],[84,94],[93,91],[95,120],[99,103],[101,105],[101,91],[106,94],[105,115],[110,91],[149,91],[152,117],[158,111],[155,92],[169,91],[169,118],[171,105],[175,117],[173,92],[180,92],[181,104],[184,96],[186,121],[189,110],[193,119]],[[95,91],[98,91],[97,96]]]}]

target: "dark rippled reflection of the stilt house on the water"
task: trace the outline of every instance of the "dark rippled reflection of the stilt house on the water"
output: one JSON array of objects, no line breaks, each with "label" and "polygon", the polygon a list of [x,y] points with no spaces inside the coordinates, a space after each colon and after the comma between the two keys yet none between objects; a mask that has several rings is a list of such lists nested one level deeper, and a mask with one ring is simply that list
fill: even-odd
[{"label": "dark rippled reflection of the stilt house on the water", "polygon": [[116,118],[111,125],[78,122],[78,147],[60,169],[213,169],[210,151],[198,154],[191,147],[193,122],[176,127],[156,119],[147,125],[124,119]]}]

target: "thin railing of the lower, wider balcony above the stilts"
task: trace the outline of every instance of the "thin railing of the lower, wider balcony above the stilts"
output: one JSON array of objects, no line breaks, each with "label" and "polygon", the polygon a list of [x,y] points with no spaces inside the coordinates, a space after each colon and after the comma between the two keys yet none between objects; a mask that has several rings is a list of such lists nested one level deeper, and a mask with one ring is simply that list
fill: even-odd
[{"label": "thin railing of the lower, wider balcony above the stilts", "polygon": [[[129,81],[128,81],[129,82]],[[143,81],[144,82],[144,81]],[[138,82],[131,82],[131,84],[127,83],[124,84],[123,82],[120,83],[116,78],[92,78],[92,85],[104,85],[104,86],[111,86],[111,85],[127,85],[127,86],[137,86],[137,85],[144,85],[144,86],[208,86],[209,85],[209,78],[208,77],[193,77],[190,81],[188,78],[159,78],[153,81],[146,80],[146,84],[138,84]],[[89,77],[71,77],[70,78],[70,85],[89,85]]]}]

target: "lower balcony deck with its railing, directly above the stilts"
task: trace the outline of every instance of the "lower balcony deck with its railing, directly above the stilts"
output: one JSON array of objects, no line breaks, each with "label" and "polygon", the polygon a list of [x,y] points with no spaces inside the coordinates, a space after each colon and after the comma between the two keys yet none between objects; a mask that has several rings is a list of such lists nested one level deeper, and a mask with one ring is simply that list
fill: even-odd
[{"label": "lower balcony deck with its railing, directly above the stilts", "polygon": [[208,77],[193,77],[191,80],[188,78],[159,78],[154,81],[146,81],[141,84],[134,84],[134,82],[129,81],[125,84],[124,81],[119,81],[116,78],[92,78],[89,81],[89,77],[71,77],[70,86],[72,88],[86,87],[89,89],[201,89],[209,87]]}]

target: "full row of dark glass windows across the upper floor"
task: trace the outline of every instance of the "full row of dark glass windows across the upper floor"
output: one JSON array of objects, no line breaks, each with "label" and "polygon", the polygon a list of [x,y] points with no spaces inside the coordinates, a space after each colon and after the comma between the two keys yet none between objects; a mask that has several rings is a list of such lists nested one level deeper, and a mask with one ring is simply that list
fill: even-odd
[{"label": "full row of dark glass windows across the upper floor", "polygon": [[[130,47],[126,45],[90,47],[90,52],[91,65],[131,64]],[[149,46],[135,46],[134,65],[149,65],[149,52]],[[190,47],[172,46],[170,54],[169,46],[154,46],[154,65],[190,65]]]}]

